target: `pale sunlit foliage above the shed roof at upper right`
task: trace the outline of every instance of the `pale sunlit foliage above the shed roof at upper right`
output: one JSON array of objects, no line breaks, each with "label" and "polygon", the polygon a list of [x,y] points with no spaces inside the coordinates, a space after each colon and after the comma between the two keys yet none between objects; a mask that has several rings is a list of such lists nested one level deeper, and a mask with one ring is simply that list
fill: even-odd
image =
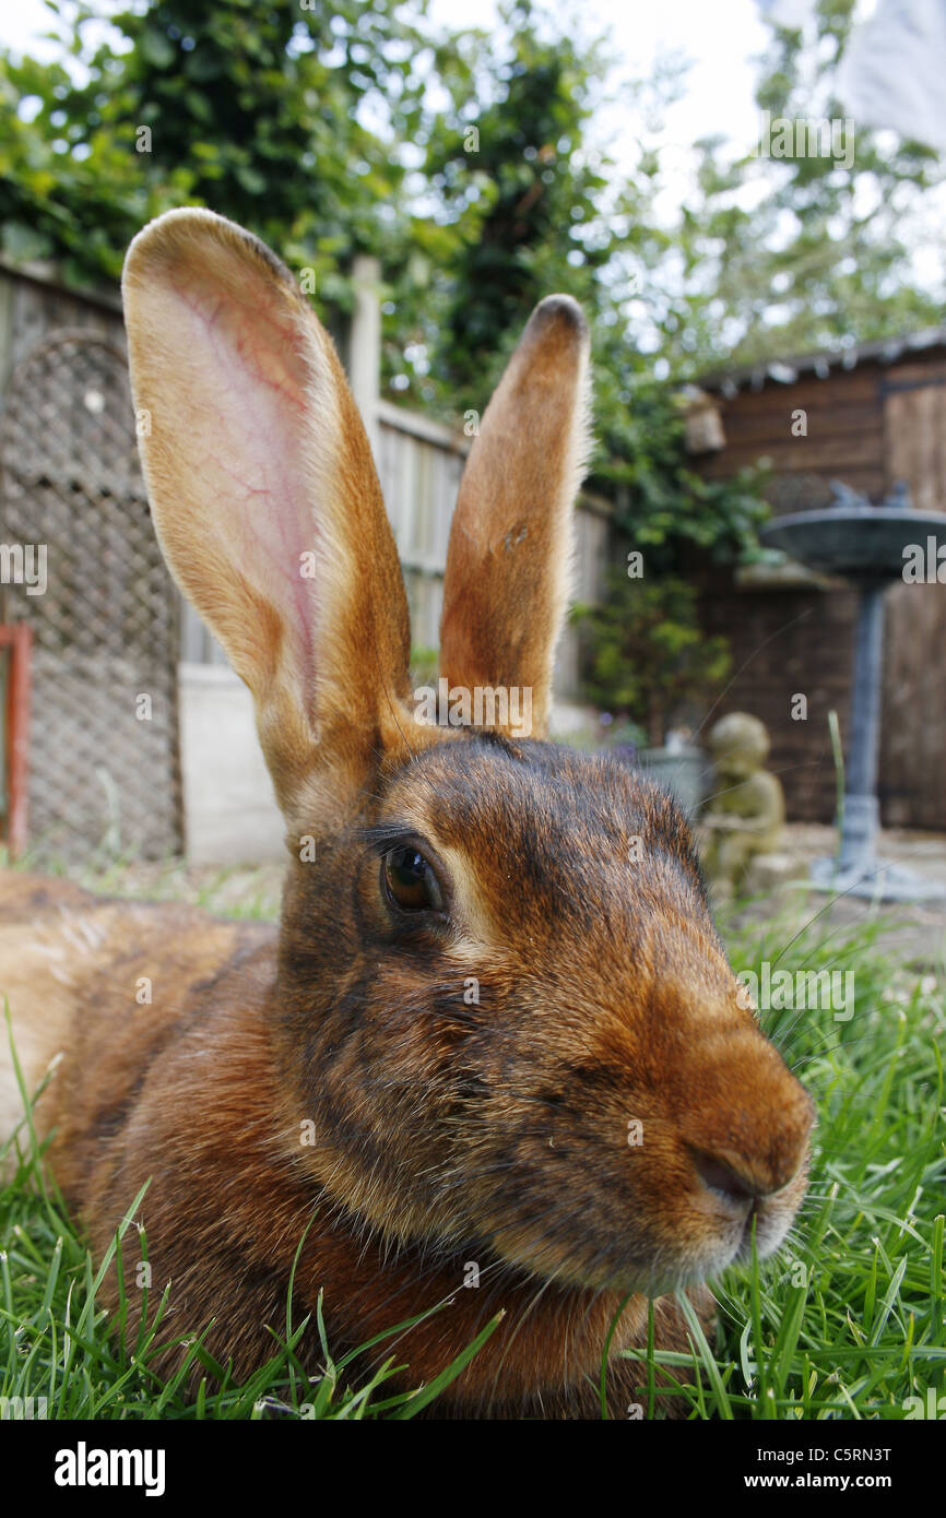
[{"label": "pale sunlit foliage above the shed roof at upper right", "polygon": [[[814,35],[771,27],[759,112],[844,120],[837,74],[852,15],[853,0],[820,0]],[[695,193],[677,231],[683,298],[667,334],[674,367],[785,360],[941,322],[941,240],[931,240],[928,208],[944,175],[932,149],[861,123],[838,158],[733,158],[717,137],[695,146]],[[938,288],[911,258],[923,241],[940,260]]]}]

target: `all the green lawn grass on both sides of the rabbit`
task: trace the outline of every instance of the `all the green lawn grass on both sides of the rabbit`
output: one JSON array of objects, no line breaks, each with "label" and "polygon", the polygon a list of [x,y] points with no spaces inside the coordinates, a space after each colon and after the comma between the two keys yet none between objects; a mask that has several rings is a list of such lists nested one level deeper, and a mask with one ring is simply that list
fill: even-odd
[{"label": "all the green lawn grass on both sides of the rabbit", "polygon": [[[821,917],[797,937],[788,920],[770,923],[764,941],[758,924],[730,934],[736,968],[768,958],[793,972],[853,970],[856,1003],[844,1023],[831,1009],[764,1017],[818,1105],[809,1195],[773,1260],[717,1283],[715,1340],[694,1318],[689,1356],[635,1357],[645,1415],[661,1415],[667,1371],[694,1418],[900,1419],[908,1398],[946,1390],[946,978],[911,972],[884,949],[881,929],[831,929]],[[208,1374],[188,1398],[181,1375],[164,1383],[150,1365],[166,1304],[152,1304],[135,1342],[123,1313],[108,1322],[97,1292],[109,1261],[90,1260],[27,1128],[17,1145],[18,1175],[0,1193],[2,1397],[44,1397],[49,1416],[61,1418],[203,1419],[410,1418],[436,1400],[437,1386],[395,1395],[393,1357],[360,1383],[352,1356],[333,1359],[320,1316],[322,1360],[310,1381],[293,1348],[301,1324],[289,1315],[270,1362],[240,1386],[191,1325],[190,1360]],[[138,1205],[128,1201],[125,1233]],[[392,1325],[392,1340],[402,1327]]]}]

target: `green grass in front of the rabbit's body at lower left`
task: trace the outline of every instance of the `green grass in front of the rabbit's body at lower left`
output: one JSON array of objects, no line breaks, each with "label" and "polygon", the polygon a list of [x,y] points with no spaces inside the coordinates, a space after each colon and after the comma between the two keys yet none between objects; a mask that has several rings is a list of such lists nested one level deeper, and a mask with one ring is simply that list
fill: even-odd
[{"label": "green grass in front of the rabbit's body at lower left", "polygon": [[[5,1022],[9,1034],[6,1008]],[[181,1368],[164,1380],[150,1362],[164,1339],[167,1289],[156,1307],[147,1302],[147,1287],[143,1289],[141,1327],[134,1339],[126,1331],[125,1290],[114,1318],[97,1301],[106,1271],[115,1258],[121,1258],[129,1230],[138,1234],[137,1257],[147,1260],[147,1237],[144,1228],[135,1224],[147,1187],[132,1199],[105,1258],[93,1261],[46,1173],[43,1148],[32,1125],[32,1102],[20,1084],[27,1116],[6,1146],[17,1155],[17,1173],[0,1190],[0,1397],[17,1398],[24,1407],[32,1404],[33,1416],[39,1416],[43,1407],[47,1418],[56,1419],[410,1419],[462,1372],[503,1318],[501,1312],[497,1313],[436,1381],[393,1392],[389,1383],[402,1369],[395,1356],[386,1357],[371,1378],[357,1384],[348,1375],[349,1365],[427,1315],[392,1324],[358,1350],[334,1359],[319,1295],[314,1316],[322,1360],[313,1377],[295,1354],[308,1318],[293,1322],[290,1278],[285,1324],[281,1325],[284,1333],[273,1333],[270,1359],[248,1381],[237,1384],[203,1348],[199,1333],[184,1336],[187,1353]],[[184,1383],[190,1380],[194,1365],[199,1389],[191,1398],[185,1395]],[[207,1375],[200,1377],[200,1371]]]}]

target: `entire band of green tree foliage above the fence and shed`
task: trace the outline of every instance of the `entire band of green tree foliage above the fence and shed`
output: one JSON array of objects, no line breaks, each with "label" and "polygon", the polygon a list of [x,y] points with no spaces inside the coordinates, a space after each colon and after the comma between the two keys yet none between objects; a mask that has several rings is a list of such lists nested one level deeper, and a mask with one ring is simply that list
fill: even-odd
[{"label": "entire band of green tree foliage above the fence and shed", "polygon": [[[445,420],[483,410],[534,302],[565,290],[592,331],[591,486],[651,574],[758,556],[765,515],[758,474],[692,468],[668,378],[938,320],[902,234],[940,178],[929,150],[858,131],[847,172],[708,137],[668,219],[654,121],[679,73],[627,77],[574,11],[506,0],[487,35],[436,32],[424,0],[152,0],[112,49],[84,41],[100,0],[49,3],[70,67],[0,59],[8,257],[114,278],[149,216],[208,203],[311,269],[337,328],[351,258],[375,252],[384,386]],[[773,27],[759,106],[837,114],[849,26],[850,0],[821,0],[814,46]],[[630,170],[595,129],[609,106]]]}]

